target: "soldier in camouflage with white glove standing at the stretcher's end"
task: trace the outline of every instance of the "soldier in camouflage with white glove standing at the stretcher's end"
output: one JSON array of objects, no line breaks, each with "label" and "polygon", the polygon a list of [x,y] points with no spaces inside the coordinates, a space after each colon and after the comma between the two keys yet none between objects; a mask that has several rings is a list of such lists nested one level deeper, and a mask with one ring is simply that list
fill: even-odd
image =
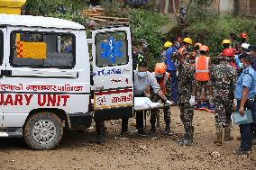
[{"label": "soldier in camouflage with white glove standing at the stretcher's end", "polygon": [[194,127],[194,105],[196,94],[195,68],[188,62],[185,55],[178,57],[178,96],[180,108],[180,120],[185,129],[185,134],[178,143],[183,146],[191,145],[193,143]]}]

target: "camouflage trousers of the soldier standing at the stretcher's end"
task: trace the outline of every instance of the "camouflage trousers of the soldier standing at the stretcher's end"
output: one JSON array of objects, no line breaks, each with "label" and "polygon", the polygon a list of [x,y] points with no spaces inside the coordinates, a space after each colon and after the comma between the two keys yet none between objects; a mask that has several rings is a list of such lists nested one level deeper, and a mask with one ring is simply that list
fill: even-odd
[{"label": "camouflage trousers of the soldier standing at the stretcher's end", "polygon": [[190,106],[189,103],[180,103],[180,120],[183,123],[184,130],[186,133],[194,134],[193,127],[193,117],[194,117],[194,108]]}]

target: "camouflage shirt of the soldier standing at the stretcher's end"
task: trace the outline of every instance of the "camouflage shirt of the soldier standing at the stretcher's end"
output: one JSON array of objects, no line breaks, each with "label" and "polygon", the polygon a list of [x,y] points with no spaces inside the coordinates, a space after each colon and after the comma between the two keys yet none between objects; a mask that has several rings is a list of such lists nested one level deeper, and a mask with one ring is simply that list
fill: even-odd
[{"label": "camouflage shirt of the soldier standing at the stretcher's end", "polygon": [[188,103],[192,95],[192,86],[196,85],[195,68],[184,63],[178,68],[179,103]]}]

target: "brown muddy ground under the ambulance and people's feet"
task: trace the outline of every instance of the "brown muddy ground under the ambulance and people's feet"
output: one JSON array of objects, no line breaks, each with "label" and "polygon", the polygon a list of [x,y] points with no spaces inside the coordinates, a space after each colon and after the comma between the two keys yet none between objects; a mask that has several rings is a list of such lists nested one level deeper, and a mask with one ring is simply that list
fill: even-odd
[{"label": "brown muddy ground under the ambulance and people's feet", "polygon": [[[164,123],[160,122],[158,139],[138,137],[131,133],[128,139],[114,139],[120,133],[120,121],[107,122],[105,146],[93,143],[93,133],[66,132],[58,148],[33,151],[23,139],[0,139],[0,169],[251,169],[256,170],[256,146],[250,157],[233,155],[238,148],[239,129],[234,126],[234,140],[216,147],[215,118],[210,112],[196,112],[195,139],[191,147],[178,146],[183,133],[177,107],[172,109],[171,127],[175,135],[160,136]],[[162,115],[161,115],[162,116]],[[163,120],[161,118],[161,120]],[[147,129],[149,119],[147,120]],[[135,130],[134,120],[129,129]],[[217,152],[213,157],[211,154]]]}]

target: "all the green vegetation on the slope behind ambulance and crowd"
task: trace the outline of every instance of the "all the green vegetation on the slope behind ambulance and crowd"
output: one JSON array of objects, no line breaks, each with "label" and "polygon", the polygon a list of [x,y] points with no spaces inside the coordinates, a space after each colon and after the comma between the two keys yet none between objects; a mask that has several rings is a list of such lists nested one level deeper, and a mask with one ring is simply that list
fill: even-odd
[{"label": "all the green vegetation on the slope behind ambulance and crowd", "polygon": [[[210,48],[210,56],[216,57],[221,52],[221,43],[229,38],[230,31],[239,35],[242,31],[249,34],[250,42],[256,43],[256,22],[253,18],[242,16],[221,17],[208,9],[212,0],[190,1],[188,7],[188,32],[194,42],[200,41]],[[30,13],[47,15],[79,22],[87,25],[87,18],[80,14],[87,8],[84,0],[27,0]],[[58,7],[64,5],[66,14],[58,13]],[[120,9],[122,8],[122,9]],[[105,7],[106,15],[130,18],[133,31],[133,44],[144,39],[149,43],[145,57],[150,61],[152,69],[160,61],[160,52],[165,40],[178,35],[175,18],[138,8],[123,8],[121,6]],[[88,32],[89,33],[89,32]],[[238,37],[239,38],[239,37]]]}]

